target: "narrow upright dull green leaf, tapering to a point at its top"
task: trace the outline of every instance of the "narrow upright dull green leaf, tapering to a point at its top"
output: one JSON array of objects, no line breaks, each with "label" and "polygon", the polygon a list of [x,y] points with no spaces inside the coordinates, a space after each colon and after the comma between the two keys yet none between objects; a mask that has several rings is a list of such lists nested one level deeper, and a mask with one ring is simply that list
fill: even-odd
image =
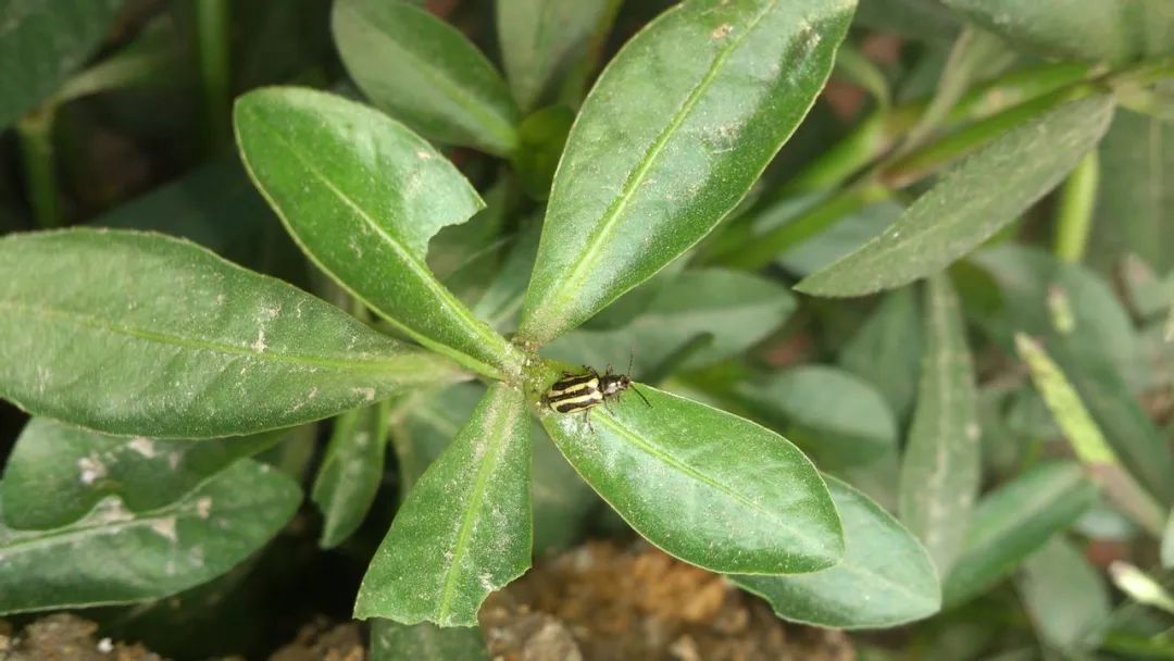
[{"label": "narrow upright dull green leaf, tapering to a point at its top", "polygon": [[978,392],[947,275],[930,278],[925,312],[929,344],[902,458],[897,511],[944,576],[962,551],[981,477]]}]

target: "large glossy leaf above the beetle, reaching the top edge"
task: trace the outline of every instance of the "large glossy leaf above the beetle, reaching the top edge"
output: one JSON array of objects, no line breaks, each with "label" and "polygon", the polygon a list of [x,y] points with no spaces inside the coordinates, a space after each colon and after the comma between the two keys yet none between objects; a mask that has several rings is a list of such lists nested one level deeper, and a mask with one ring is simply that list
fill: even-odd
[{"label": "large glossy leaf above the beetle, reaching the top edge", "polygon": [[701,241],[831,70],[853,0],[689,0],[612,60],[554,177],[519,337],[542,345]]}]

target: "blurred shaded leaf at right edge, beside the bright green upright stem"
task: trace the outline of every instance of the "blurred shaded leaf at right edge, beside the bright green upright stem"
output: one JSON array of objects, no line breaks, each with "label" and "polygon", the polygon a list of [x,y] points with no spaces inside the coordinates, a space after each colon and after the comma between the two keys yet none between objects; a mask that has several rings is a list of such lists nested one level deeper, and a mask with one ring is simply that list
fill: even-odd
[{"label": "blurred shaded leaf at right edge, beside the bright green upright stem", "polygon": [[1174,123],[1128,110],[1113,117],[1100,147],[1100,190],[1088,259],[1101,269],[1122,252],[1158,274],[1174,270]]}]

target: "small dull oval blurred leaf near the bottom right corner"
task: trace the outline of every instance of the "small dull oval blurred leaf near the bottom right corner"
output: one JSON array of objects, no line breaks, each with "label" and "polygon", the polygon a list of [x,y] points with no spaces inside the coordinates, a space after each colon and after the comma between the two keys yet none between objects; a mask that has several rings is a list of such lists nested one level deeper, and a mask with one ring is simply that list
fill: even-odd
[{"label": "small dull oval blurred leaf near the bottom right corner", "polygon": [[1027,560],[1019,593],[1040,639],[1062,650],[1095,648],[1109,619],[1109,595],[1100,572],[1062,537]]}]

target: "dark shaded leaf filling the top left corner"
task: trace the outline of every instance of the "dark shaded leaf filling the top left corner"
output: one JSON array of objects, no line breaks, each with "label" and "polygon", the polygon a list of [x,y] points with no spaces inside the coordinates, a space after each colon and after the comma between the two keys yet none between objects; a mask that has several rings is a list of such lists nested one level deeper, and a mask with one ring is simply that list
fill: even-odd
[{"label": "dark shaded leaf filling the top left corner", "polygon": [[101,43],[123,0],[0,0],[0,129],[48,99]]}]

